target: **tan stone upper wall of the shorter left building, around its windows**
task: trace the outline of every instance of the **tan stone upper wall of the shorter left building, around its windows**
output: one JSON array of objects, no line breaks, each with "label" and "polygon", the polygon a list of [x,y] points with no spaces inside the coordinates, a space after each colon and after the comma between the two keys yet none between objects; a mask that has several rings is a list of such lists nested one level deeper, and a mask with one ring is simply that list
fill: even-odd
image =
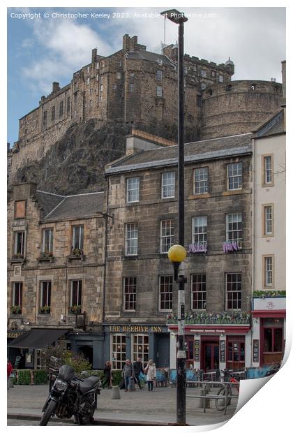
[{"label": "tan stone upper wall of the shorter left building, around its windows", "polygon": [[[91,194],[91,200],[96,196]],[[71,205],[74,206],[78,198],[80,196],[71,197]],[[75,314],[70,309],[73,280],[82,281],[80,313],[85,313],[85,325],[94,327],[102,320],[105,219],[97,212],[84,217],[74,214],[57,217],[55,210],[62,210],[66,200],[68,198],[36,190],[35,184],[17,184],[13,188],[13,198],[8,203],[8,330],[29,330],[31,326],[62,328],[64,325],[75,328]],[[83,227],[82,254],[73,254],[73,226]],[[52,229],[50,254],[45,253],[43,247],[43,230],[47,228]],[[15,233],[18,232],[24,233],[22,254],[15,254]],[[50,281],[51,285],[49,311],[41,308],[43,281]],[[14,293],[17,283],[22,283],[21,299],[16,299]],[[13,311],[13,307],[20,309]]]}]

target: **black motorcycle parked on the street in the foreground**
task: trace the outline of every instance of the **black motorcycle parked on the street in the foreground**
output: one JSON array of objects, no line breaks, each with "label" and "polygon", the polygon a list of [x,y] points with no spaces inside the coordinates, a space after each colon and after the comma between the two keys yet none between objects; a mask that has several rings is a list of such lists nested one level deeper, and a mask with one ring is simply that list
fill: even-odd
[{"label": "black motorcycle parked on the street in the foreground", "polygon": [[47,425],[52,416],[60,419],[74,416],[79,425],[84,425],[85,420],[93,423],[97,395],[100,394],[100,379],[96,376],[82,379],[75,375],[69,365],[58,368],[57,362],[54,356],[50,358],[50,394],[43,406],[40,425]]}]

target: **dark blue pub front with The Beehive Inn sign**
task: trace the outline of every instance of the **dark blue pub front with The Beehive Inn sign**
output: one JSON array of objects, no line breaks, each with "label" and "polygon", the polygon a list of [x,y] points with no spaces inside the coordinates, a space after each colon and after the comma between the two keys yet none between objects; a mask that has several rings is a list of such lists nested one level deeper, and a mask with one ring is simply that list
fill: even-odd
[{"label": "dark blue pub front with The Beehive Inn sign", "polygon": [[149,359],[157,368],[170,367],[170,333],[165,325],[107,324],[105,332],[105,360],[113,369],[123,369],[126,359],[142,358],[144,366]]}]

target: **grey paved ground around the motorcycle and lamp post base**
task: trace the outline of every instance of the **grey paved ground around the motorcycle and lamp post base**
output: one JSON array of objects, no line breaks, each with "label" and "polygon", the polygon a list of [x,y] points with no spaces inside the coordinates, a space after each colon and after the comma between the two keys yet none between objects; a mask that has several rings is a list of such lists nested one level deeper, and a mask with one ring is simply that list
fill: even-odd
[{"label": "grey paved ground around the motorcycle and lamp post base", "polygon": [[[211,388],[215,394],[217,388]],[[187,388],[186,395],[198,395],[199,388]],[[8,425],[38,425],[48,386],[14,386],[7,391]],[[121,399],[111,399],[112,390],[100,391],[95,424],[98,425],[167,425],[176,422],[176,388],[154,387],[135,392],[120,390]],[[198,409],[200,400],[186,398],[186,423],[188,425],[213,425],[232,418],[237,399],[227,407],[227,413],[214,408]],[[73,420],[52,418],[49,425],[73,425]]]}]

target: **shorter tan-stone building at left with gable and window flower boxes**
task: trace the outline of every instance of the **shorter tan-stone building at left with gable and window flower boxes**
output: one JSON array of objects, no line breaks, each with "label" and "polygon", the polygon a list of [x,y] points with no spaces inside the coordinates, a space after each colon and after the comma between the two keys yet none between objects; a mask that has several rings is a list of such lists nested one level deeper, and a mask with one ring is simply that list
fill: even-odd
[{"label": "shorter tan-stone building at left with gable and window flower boxes", "polygon": [[[78,331],[71,332],[68,343],[73,351],[82,351],[89,358],[94,348],[96,368],[103,365],[103,337],[100,327],[95,326],[102,321],[103,206],[104,193],[63,197],[38,191],[29,183],[14,186],[8,205],[8,337],[39,328],[45,330],[42,344],[50,345],[57,338],[56,332],[60,337],[91,325],[96,330],[94,342],[91,337],[91,353],[85,334],[80,339]],[[13,340],[8,338],[8,342]],[[43,346],[21,343],[11,347],[10,360],[31,353],[25,365],[36,368],[36,347]]]}]

